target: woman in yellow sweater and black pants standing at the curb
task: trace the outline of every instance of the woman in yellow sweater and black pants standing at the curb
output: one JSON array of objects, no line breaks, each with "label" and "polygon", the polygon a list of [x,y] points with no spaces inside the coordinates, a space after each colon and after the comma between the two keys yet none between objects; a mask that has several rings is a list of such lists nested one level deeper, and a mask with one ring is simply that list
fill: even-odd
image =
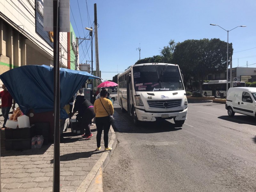
[{"label": "woman in yellow sweater and black pants standing at the curb", "polygon": [[114,114],[114,108],[112,102],[107,99],[107,95],[108,91],[103,89],[100,91],[100,99],[94,101],[94,113],[96,114],[95,123],[97,127],[97,151],[99,151],[101,148],[100,140],[103,128],[105,151],[109,151],[112,149],[111,147],[108,147],[108,131],[111,125],[108,116]]}]

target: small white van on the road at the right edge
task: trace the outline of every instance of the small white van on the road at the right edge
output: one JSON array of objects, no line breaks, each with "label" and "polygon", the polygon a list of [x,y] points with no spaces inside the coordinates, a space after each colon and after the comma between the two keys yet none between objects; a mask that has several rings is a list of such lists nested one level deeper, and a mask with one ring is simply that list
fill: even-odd
[{"label": "small white van on the road at the right edge", "polygon": [[241,113],[255,117],[256,87],[229,88],[225,107],[229,116]]}]

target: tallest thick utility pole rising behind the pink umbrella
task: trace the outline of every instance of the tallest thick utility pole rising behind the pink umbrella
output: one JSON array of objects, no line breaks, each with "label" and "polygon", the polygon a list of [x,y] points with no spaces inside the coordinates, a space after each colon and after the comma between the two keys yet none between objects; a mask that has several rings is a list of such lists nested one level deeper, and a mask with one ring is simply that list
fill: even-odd
[{"label": "tallest thick utility pole rising behind the pink umbrella", "polygon": [[[97,25],[97,4],[94,4],[94,35],[95,35],[95,65],[96,76],[100,77],[100,64],[99,64],[99,48],[98,48],[98,25]],[[100,79],[96,79],[96,87],[100,84]]]}]

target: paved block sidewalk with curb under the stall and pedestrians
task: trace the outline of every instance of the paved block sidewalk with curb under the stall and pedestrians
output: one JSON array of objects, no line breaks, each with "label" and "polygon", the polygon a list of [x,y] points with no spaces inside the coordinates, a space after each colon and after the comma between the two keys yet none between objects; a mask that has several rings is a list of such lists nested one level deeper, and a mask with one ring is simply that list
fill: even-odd
[{"label": "paved block sidewalk with curb under the stall and pedestrians", "polygon": [[[0,126],[2,125],[1,116]],[[103,191],[102,169],[108,164],[116,146],[116,135],[111,126],[108,146],[113,150],[103,151],[102,133],[102,148],[96,151],[95,124],[91,126],[91,130],[93,137],[90,140],[84,140],[81,135],[73,135],[70,129],[63,133],[64,142],[60,143],[60,191],[62,192]],[[1,146],[2,192],[51,192],[53,151],[53,144],[43,145],[40,149],[7,151]]]}]

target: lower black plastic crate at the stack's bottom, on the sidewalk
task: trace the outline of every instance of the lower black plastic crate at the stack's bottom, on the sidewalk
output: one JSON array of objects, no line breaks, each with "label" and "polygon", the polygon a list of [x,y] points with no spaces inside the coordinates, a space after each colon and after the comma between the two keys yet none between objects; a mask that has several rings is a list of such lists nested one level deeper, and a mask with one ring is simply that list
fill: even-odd
[{"label": "lower black plastic crate at the stack's bottom, on the sidewalk", "polygon": [[5,150],[31,149],[31,139],[6,139]]}]

